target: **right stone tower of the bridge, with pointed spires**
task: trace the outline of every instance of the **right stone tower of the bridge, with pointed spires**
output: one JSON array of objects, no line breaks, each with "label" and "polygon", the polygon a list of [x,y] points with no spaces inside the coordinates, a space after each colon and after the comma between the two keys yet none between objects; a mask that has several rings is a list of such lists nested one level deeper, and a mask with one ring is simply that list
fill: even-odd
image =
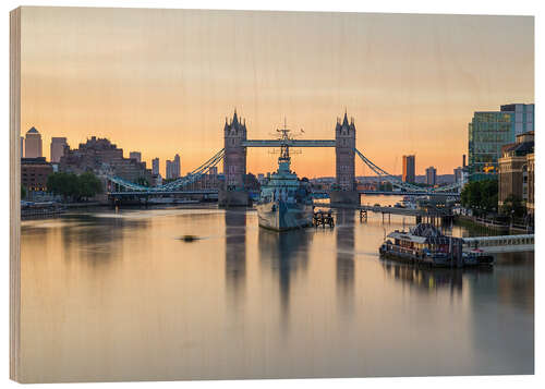
[{"label": "right stone tower of the bridge, with pointed spires", "polygon": [[335,126],[336,185],[331,189],[331,204],[360,204],[355,182],[355,125],[348,121],[347,111],[342,122]]}]

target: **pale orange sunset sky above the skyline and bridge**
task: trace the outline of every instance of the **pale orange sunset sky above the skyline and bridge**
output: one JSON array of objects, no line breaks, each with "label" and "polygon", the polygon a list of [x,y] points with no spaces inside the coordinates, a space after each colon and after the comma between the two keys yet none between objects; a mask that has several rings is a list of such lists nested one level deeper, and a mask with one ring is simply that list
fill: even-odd
[{"label": "pale orange sunset sky above the skyline and bridge", "polygon": [[[220,150],[237,109],[250,139],[284,117],[298,138],[330,139],[347,111],[383,169],[414,154],[417,174],[451,174],[474,111],[534,102],[531,16],[23,8],[21,45],[21,132],[41,133],[45,157],[52,136],[95,135],[162,173]],[[276,170],[270,151],[249,149],[247,171]],[[334,149],[301,151],[299,175],[335,174]]]}]

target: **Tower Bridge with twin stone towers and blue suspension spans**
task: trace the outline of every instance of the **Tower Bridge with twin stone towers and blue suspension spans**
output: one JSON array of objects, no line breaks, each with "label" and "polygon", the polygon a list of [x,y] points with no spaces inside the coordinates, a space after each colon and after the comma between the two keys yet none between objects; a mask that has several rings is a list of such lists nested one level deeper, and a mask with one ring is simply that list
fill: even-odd
[{"label": "Tower Bridge with twin stone towers and blue suspension spans", "polygon": [[228,120],[223,126],[223,149],[214,155],[198,168],[187,175],[180,178],[168,184],[155,187],[146,187],[128,182],[117,177],[108,177],[108,192],[110,196],[123,192],[142,193],[145,196],[162,195],[166,193],[184,191],[187,185],[196,182],[208,170],[223,161],[225,184],[219,190],[218,202],[220,206],[244,206],[250,203],[249,192],[244,185],[246,177],[246,151],[249,147],[335,147],[336,185],[329,191],[329,198],[332,205],[359,205],[360,193],[356,190],[355,180],[355,157],[358,156],[375,174],[390,182],[393,186],[403,190],[402,193],[420,194],[452,194],[459,184],[441,186],[436,190],[425,190],[407,182],[402,182],[397,177],[388,173],[355,146],[355,124],[354,119],[348,119],[347,112],[342,120],[337,118],[334,129],[332,139],[249,139],[246,122],[239,119],[237,110],[233,118]]}]

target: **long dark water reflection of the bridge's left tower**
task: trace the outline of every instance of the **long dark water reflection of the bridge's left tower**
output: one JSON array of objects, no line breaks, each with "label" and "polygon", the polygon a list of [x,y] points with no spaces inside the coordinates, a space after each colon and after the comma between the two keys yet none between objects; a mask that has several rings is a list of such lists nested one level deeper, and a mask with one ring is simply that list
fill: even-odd
[{"label": "long dark water reflection of the bridge's left tower", "polygon": [[246,212],[227,210],[226,289],[234,305],[244,300],[246,289]]}]

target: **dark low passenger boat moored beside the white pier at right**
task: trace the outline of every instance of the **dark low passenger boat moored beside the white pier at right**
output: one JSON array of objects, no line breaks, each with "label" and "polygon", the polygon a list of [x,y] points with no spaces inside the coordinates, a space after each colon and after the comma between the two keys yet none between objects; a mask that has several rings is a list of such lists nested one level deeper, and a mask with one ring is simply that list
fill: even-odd
[{"label": "dark low passenger boat moored beside the white pier at right", "polygon": [[378,248],[382,257],[437,267],[458,265],[452,253],[461,252],[462,240],[443,235],[433,224],[419,223],[409,231],[390,232],[387,238]]}]

